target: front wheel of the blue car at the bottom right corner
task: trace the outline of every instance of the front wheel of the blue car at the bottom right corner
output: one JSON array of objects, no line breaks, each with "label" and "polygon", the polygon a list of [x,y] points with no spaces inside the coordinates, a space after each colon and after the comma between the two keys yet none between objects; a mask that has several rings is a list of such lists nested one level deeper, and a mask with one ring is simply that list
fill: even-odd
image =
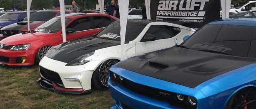
[{"label": "front wheel of the blue car at the bottom right corner", "polygon": [[228,100],[224,109],[256,109],[256,88],[239,90]]}]

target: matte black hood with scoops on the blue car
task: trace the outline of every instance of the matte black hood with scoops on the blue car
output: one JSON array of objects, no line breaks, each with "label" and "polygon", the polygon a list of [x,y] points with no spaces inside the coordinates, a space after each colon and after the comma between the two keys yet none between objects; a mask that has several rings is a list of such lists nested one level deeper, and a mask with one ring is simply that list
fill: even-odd
[{"label": "matte black hood with scoops on the blue car", "polygon": [[116,66],[195,88],[206,80],[255,62],[255,58],[228,56],[174,46],[130,58]]}]

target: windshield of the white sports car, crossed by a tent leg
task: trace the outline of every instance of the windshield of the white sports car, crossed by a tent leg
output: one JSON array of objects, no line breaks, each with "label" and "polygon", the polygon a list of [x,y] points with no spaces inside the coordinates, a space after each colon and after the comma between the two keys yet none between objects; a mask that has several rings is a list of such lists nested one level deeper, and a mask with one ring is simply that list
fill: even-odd
[{"label": "windshield of the white sports car, crossed by a tent leg", "polygon": [[[125,41],[133,41],[146,27],[144,24],[127,22]],[[98,35],[101,39],[120,41],[120,22],[116,21],[103,29]]]}]

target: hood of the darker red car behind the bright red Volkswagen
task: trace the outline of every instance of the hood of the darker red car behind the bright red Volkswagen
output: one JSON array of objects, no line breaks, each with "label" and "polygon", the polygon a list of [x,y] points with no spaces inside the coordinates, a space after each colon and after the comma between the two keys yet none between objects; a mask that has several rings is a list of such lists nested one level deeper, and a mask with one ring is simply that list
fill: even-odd
[{"label": "hood of the darker red car behind the bright red Volkswagen", "polygon": [[[39,27],[43,23],[45,23],[45,22],[44,21],[31,21],[30,22],[30,30],[36,29],[37,27]],[[6,27],[3,27],[1,30],[6,30],[6,31],[11,31],[11,30],[28,31],[28,21],[18,22],[18,23],[15,23],[15,24],[10,24]]]}]

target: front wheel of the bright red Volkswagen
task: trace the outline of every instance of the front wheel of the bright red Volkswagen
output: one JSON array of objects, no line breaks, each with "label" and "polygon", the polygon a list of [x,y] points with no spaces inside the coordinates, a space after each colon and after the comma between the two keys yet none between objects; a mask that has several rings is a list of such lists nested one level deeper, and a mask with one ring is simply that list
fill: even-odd
[{"label": "front wheel of the bright red Volkswagen", "polygon": [[42,48],[40,48],[38,50],[38,52],[36,52],[35,54],[35,63],[39,64],[40,60],[43,58],[43,56],[45,56],[45,54],[47,53],[48,50],[50,50],[50,48],[52,48],[53,46],[43,46]]}]

